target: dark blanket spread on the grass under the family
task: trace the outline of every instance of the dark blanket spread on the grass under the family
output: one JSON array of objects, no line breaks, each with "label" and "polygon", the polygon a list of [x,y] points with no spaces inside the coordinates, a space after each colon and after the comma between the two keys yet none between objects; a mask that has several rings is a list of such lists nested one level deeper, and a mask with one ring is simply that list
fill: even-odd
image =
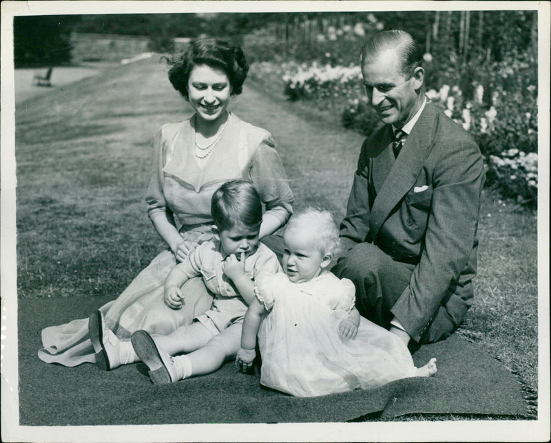
[{"label": "dark blanket spread on the grass under the family", "polygon": [[214,374],[156,387],[142,363],[114,371],[39,360],[41,329],[84,318],[108,299],[19,301],[21,425],[346,422],[409,413],[527,415],[520,385],[482,349],[459,336],[421,347],[417,366],[437,358],[433,378],[397,380],[378,389],[295,398],[262,389],[258,371],[227,363]]}]

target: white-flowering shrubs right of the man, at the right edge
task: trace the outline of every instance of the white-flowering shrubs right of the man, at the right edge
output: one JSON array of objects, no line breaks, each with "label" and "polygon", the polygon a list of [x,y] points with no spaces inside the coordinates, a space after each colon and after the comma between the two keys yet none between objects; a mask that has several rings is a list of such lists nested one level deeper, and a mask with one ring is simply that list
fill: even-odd
[{"label": "white-flowering shrubs right of the man, at the right edge", "polygon": [[512,53],[490,69],[487,85],[472,82],[427,92],[430,100],[469,131],[486,159],[487,183],[522,204],[537,204],[537,64]]}]

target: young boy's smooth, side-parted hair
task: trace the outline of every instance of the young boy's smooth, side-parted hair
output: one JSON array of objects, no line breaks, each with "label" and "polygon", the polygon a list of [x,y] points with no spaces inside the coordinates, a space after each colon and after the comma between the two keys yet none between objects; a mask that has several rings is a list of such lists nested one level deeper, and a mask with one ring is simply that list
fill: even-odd
[{"label": "young boy's smooth, side-parted hair", "polygon": [[229,180],[212,195],[211,215],[219,230],[236,225],[260,229],[262,200],[251,182]]}]

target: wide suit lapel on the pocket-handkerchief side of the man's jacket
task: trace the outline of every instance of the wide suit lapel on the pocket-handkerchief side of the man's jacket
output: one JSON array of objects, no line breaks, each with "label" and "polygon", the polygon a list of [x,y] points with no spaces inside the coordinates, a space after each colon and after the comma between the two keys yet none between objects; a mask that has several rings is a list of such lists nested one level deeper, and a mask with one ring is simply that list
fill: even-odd
[{"label": "wide suit lapel on the pocket-handkerchief side of the man's jacket", "polygon": [[[377,190],[377,197],[371,208],[371,217],[369,219],[369,231],[371,238],[375,239],[381,226],[391,213],[391,210],[408,193],[415,184],[419,171],[433,147],[433,133],[435,131],[436,111],[433,105],[427,103],[419,120],[415,123],[410,135],[404,142],[404,147],[398,158],[395,160],[391,170],[386,175],[386,179],[380,189]],[[392,153],[391,145],[387,151]],[[375,171],[388,171],[388,154],[382,153],[377,158],[373,158],[373,179],[377,179]]]}]

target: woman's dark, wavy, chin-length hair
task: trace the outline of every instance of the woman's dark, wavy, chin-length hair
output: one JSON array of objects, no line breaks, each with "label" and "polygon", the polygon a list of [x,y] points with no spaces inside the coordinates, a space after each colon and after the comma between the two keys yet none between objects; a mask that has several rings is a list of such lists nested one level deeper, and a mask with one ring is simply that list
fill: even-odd
[{"label": "woman's dark, wavy, chin-length hair", "polygon": [[249,72],[245,54],[239,46],[218,39],[201,39],[196,41],[187,52],[176,58],[167,59],[172,65],[168,72],[170,83],[182,96],[189,100],[187,81],[191,70],[196,65],[207,65],[221,69],[228,77],[231,94],[238,96],[243,90],[243,83]]}]

